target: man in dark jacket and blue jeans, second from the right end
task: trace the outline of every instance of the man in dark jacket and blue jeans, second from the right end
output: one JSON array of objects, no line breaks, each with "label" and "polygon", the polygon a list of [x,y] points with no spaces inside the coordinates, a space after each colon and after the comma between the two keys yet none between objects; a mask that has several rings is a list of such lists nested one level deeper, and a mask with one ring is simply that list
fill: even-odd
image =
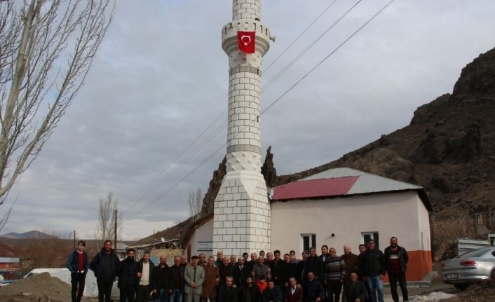
[{"label": "man in dark jacket and blue jeans, second from the right end", "polygon": [[368,241],[368,248],[359,256],[359,271],[369,289],[369,299],[371,302],[384,302],[384,282],[385,275],[384,253],[375,247],[374,240]]}]

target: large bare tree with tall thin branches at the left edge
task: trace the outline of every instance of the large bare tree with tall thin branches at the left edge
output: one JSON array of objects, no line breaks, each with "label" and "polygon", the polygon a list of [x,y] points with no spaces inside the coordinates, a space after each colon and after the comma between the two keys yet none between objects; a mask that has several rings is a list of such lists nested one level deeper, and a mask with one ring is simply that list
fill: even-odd
[{"label": "large bare tree with tall thin branches at the left edge", "polygon": [[114,0],[0,1],[0,205],[81,89],[114,8]]}]

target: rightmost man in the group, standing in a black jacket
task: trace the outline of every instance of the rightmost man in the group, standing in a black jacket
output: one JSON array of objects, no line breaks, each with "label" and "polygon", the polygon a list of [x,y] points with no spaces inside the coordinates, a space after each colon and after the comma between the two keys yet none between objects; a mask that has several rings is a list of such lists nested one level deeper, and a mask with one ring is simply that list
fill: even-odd
[{"label": "rightmost man in the group, standing in a black jacket", "polygon": [[397,282],[400,285],[400,291],[402,291],[402,299],[407,301],[409,295],[407,293],[406,284],[406,266],[409,257],[407,256],[406,249],[397,245],[397,238],[390,238],[390,246],[385,249],[385,269],[388,273],[388,280],[390,281],[390,290],[392,292],[392,298],[394,302],[399,302],[399,295],[397,294]]}]

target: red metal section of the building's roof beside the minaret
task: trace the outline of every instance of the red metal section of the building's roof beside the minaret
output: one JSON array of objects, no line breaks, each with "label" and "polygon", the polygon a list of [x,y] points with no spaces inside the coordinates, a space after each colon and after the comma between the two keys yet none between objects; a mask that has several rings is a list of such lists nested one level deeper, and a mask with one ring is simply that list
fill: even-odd
[{"label": "red metal section of the building's roof beside the minaret", "polygon": [[346,195],[359,176],[294,181],[273,188],[272,200]]}]

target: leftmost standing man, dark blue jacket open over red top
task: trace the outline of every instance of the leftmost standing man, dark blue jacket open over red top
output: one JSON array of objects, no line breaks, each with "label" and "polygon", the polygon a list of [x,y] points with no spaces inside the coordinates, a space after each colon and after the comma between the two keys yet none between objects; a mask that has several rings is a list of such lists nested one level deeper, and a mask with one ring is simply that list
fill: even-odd
[{"label": "leftmost standing man, dark blue jacket open over red top", "polygon": [[86,242],[79,241],[75,249],[67,259],[67,268],[71,272],[72,302],[81,302],[83,298],[86,273],[88,273],[88,253],[84,250]]}]

